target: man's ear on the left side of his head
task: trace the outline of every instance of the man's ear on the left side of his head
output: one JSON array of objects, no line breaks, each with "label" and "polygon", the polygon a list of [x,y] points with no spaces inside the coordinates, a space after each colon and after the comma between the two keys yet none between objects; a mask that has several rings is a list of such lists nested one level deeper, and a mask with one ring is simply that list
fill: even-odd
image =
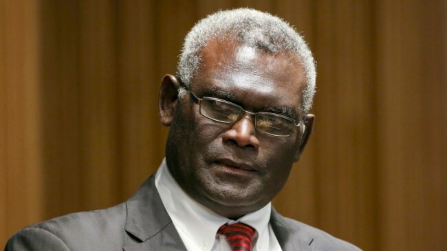
[{"label": "man's ear on the left side of his head", "polygon": [[179,82],[173,75],[164,75],[160,93],[158,95],[158,110],[160,121],[169,126],[173,121],[175,108],[177,108]]}]

